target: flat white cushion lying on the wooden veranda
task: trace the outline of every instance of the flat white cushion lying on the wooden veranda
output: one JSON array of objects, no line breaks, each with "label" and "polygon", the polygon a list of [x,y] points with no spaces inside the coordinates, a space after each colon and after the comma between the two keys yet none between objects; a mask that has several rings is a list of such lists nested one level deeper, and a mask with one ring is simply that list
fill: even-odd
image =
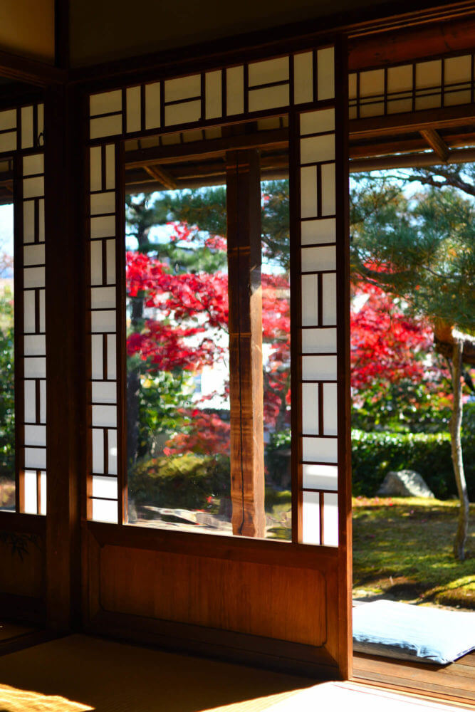
[{"label": "flat white cushion lying on the wooden veranda", "polygon": [[365,603],[353,608],[353,649],[447,665],[475,649],[475,612],[394,601]]}]

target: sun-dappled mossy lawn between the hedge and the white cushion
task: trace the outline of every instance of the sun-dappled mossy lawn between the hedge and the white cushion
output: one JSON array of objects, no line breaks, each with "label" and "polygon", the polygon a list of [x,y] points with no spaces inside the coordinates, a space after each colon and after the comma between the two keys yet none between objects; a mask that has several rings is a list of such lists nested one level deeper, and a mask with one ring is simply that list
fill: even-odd
[{"label": "sun-dappled mossy lawn between the hedge and the white cushion", "polygon": [[353,499],[353,596],[475,609],[475,505],[463,562],[452,542],[459,503]]}]

